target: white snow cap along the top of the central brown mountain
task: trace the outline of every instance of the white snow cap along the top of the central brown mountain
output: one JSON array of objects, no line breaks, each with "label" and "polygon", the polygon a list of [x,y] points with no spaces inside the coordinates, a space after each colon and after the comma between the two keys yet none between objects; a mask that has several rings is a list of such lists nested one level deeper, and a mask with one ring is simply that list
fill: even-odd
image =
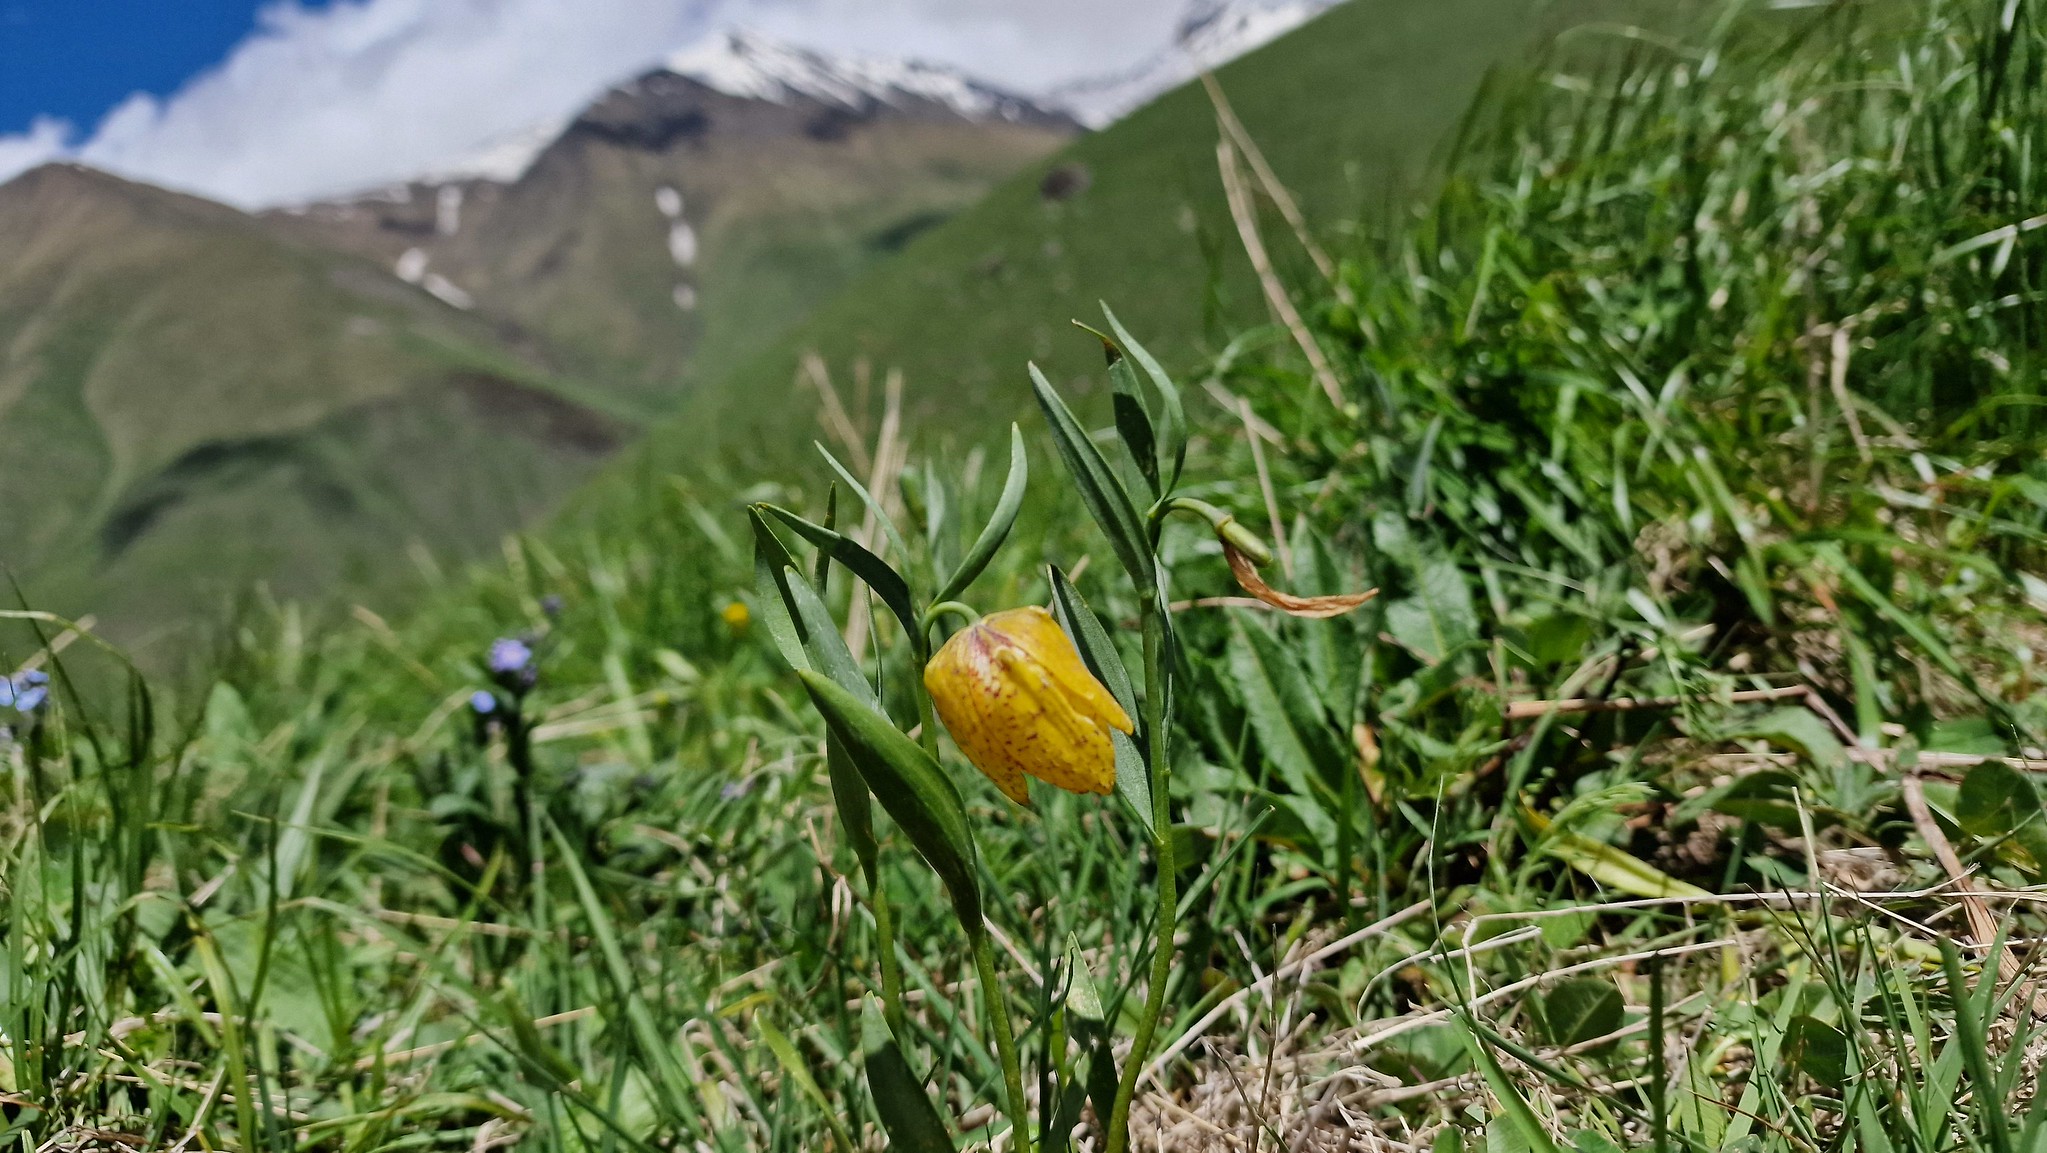
[{"label": "white snow cap along the top of the central brown mountain", "polygon": [[745,31],[727,31],[667,57],[667,70],[727,96],[788,102],[809,96],[864,111],[925,100],[970,121],[1044,115],[1030,100],[954,68],[872,55],[825,55]]}]

